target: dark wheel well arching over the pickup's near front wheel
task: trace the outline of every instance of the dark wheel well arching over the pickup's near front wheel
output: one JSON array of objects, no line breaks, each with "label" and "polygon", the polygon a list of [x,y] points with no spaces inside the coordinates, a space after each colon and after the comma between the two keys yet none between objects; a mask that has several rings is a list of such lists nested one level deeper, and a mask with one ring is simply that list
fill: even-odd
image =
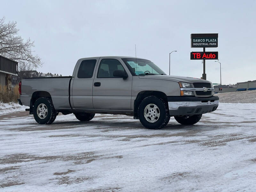
[{"label": "dark wheel well arching over the pickup's near front wheel", "polygon": [[160,91],[141,91],[138,93],[135,101],[134,101],[134,118],[138,118],[138,108],[143,99],[145,99],[148,96],[156,96],[158,98],[163,99],[168,106],[168,101],[167,101],[167,95],[164,92]]}]

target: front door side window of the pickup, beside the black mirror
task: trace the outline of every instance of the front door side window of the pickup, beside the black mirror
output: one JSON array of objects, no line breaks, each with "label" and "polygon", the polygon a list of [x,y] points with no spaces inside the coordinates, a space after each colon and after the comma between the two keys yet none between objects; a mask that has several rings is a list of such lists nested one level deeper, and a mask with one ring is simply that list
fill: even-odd
[{"label": "front door side window of the pickup, beside the black mirror", "polygon": [[122,64],[116,59],[102,59],[98,71],[98,78],[118,78],[113,76],[115,70],[124,71]]}]

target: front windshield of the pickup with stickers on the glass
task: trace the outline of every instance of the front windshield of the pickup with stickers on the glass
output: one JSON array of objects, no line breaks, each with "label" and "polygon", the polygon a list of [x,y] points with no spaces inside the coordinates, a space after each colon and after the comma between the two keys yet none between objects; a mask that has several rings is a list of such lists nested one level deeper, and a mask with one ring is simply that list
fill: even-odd
[{"label": "front windshield of the pickup with stickers on the glass", "polygon": [[159,67],[153,62],[144,59],[122,59],[125,65],[129,68],[133,76],[143,74],[166,75]]}]

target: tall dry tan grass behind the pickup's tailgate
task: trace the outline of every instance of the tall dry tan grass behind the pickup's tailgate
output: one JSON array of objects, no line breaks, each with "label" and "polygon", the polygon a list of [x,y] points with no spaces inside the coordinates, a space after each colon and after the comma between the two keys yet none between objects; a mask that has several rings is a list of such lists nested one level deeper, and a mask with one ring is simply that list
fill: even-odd
[{"label": "tall dry tan grass behind the pickup's tailgate", "polygon": [[17,103],[17,99],[19,99],[19,85],[12,87],[11,91],[7,91],[6,86],[0,85],[0,102],[9,103],[15,102]]}]

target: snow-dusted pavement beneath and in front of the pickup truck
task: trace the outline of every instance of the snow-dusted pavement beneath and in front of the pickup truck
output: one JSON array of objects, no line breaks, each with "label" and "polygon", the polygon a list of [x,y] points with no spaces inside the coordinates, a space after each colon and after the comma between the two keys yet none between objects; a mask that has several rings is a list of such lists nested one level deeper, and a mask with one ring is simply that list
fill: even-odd
[{"label": "snow-dusted pavement beneath and in front of the pickup truck", "polygon": [[0,116],[0,191],[255,191],[256,104],[220,103],[193,126],[128,116],[39,125]]}]

